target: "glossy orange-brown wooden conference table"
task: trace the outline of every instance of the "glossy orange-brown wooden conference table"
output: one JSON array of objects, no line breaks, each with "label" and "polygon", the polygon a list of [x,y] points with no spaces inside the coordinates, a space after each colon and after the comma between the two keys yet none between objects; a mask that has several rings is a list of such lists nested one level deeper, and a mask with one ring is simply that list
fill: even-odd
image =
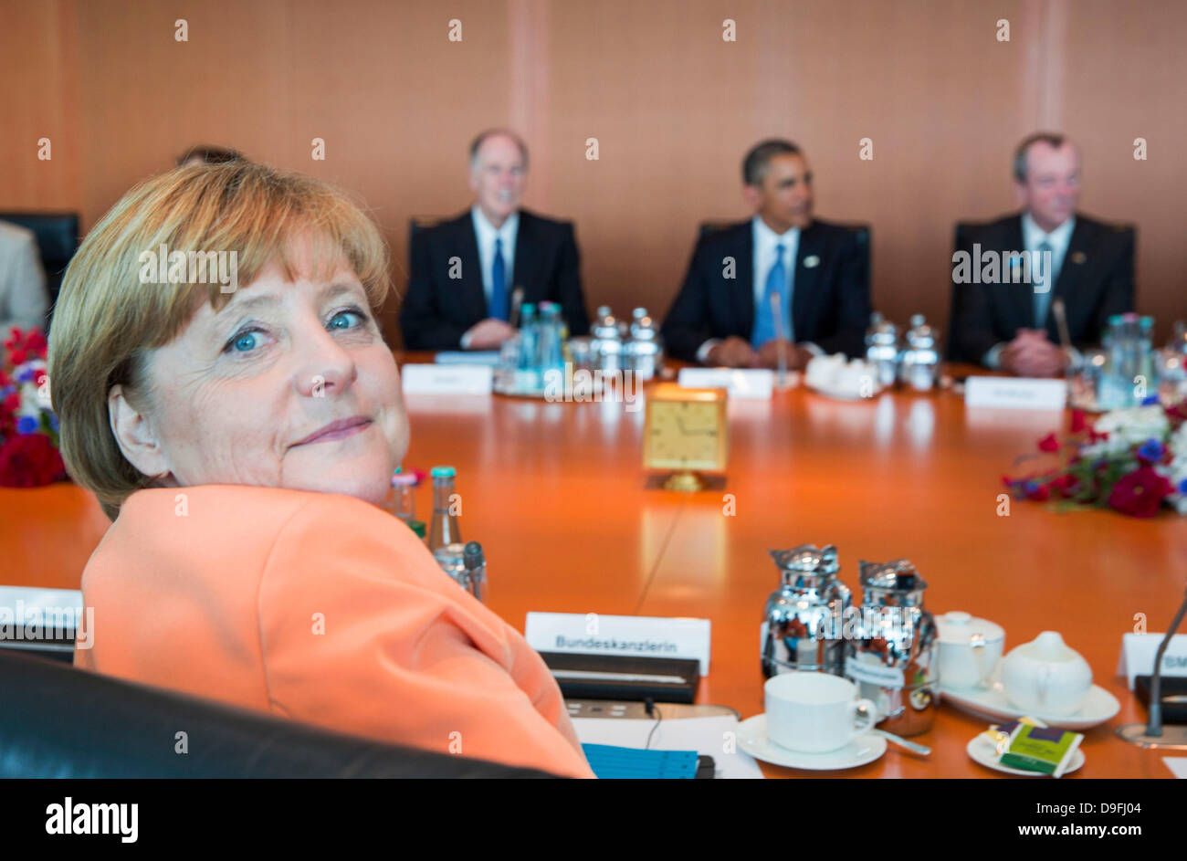
[{"label": "glossy orange-brown wooden conference table", "polygon": [[[430,361],[408,354],[405,361]],[[1041,631],[1064,634],[1092,665],[1121,714],[1087,732],[1075,777],[1170,777],[1162,754],[1112,728],[1144,721],[1115,677],[1135,614],[1164,631],[1183,589],[1187,519],[1056,513],[1011,501],[1001,475],[1066,428],[1066,416],[966,410],[952,392],[894,392],[836,401],[798,388],[769,401],[732,400],[725,487],[679,494],[648,486],[643,410],[621,403],[503,397],[407,399],[405,461],[457,467],[462,531],[489,562],[489,606],[523,629],[529,610],[699,616],[712,621],[712,664],[697,702],[762,711],[758,622],[779,575],[768,547],[836,544],[840,578],[859,601],[859,559],[900,557],[928,583],[933,613],[963,609],[1005,628],[1007,650]],[[724,512],[734,494],[736,514]],[[418,511],[431,490],[418,492]],[[72,485],[0,489],[0,583],[78,588],[107,527]],[[918,759],[891,746],[833,777],[1001,777],[969,759],[985,722],[944,705]],[[1181,755],[1181,754],[1180,754]],[[769,777],[808,777],[763,765]]]}]

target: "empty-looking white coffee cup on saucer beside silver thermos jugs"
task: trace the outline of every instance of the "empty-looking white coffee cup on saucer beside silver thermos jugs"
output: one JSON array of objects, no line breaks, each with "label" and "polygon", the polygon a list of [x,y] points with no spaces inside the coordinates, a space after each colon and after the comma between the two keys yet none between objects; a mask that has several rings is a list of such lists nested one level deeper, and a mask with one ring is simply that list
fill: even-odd
[{"label": "empty-looking white coffee cup on saucer beside silver thermos jugs", "polygon": [[876,717],[874,703],[857,698],[856,684],[826,672],[773,676],[763,694],[767,737],[800,753],[837,751],[868,733]]}]

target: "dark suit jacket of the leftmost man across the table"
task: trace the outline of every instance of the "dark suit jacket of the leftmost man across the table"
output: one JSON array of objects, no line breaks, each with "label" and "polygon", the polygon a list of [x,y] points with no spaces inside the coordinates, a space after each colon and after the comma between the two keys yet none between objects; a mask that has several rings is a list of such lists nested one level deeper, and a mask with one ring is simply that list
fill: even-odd
[{"label": "dark suit jacket of the leftmost man across the table", "polygon": [[[458,349],[466,329],[490,316],[470,210],[415,234],[410,257],[408,291],[400,309],[405,348]],[[462,260],[462,277],[457,279],[449,277],[453,257]],[[523,302],[558,303],[570,335],[584,335],[589,331],[589,316],[579,266],[571,222],[520,210],[508,295],[514,287],[523,287]]]}]

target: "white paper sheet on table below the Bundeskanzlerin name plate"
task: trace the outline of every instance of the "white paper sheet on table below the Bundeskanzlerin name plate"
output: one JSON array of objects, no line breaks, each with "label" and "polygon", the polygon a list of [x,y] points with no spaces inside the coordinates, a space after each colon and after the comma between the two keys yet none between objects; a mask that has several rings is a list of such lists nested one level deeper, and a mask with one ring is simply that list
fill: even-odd
[{"label": "white paper sheet on table below the Bundeskanzlerin name plate", "polygon": [[[575,717],[577,737],[586,745],[647,747],[655,721],[634,717]],[[732,715],[662,720],[652,735],[653,751],[696,751],[712,756],[719,779],[762,778],[754,756],[736,747],[738,721]],[[729,735],[732,733],[734,735]],[[734,742],[734,743],[730,743]],[[734,753],[726,753],[734,748]]]}]

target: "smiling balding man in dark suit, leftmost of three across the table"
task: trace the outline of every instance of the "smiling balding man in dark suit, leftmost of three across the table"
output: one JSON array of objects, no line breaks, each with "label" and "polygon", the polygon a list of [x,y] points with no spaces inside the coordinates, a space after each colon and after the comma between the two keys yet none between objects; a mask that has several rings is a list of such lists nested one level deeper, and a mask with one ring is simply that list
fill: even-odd
[{"label": "smiling balding man in dark suit, leftmost of three across the table", "polygon": [[558,303],[571,335],[589,330],[573,226],[520,209],[526,176],[527,146],[515,134],[493,129],[474,140],[474,205],[412,240],[405,347],[497,349],[515,334],[516,287],[525,303]]}]

